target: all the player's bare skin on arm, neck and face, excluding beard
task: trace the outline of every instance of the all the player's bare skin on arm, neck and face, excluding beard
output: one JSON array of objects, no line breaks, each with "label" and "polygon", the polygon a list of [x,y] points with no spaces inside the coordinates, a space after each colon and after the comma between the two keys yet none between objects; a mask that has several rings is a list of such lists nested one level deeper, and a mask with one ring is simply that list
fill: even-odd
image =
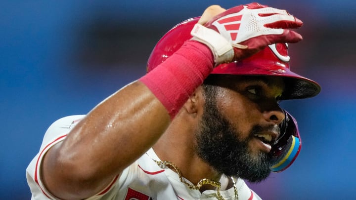
[{"label": "all the player's bare skin on arm, neck and face, excluding beard", "polygon": [[[204,24],[224,10],[210,6],[199,23]],[[281,80],[223,82],[217,105],[236,128],[237,121],[243,120],[244,125],[238,127],[241,138],[246,138],[256,123],[277,125],[283,120],[277,104],[284,89]],[[161,160],[175,163],[193,184],[203,178],[219,180],[222,174],[202,160],[194,148],[194,133],[199,129],[204,103],[199,86],[171,121],[165,107],[143,83],[128,84],[93,108],[63,142],[48,150],[40,170],[46,189],[59,199],[91,197],[150,147]],[[249,150],[252,155],[269,151],[256,138],[250,140]],[[231,183],[226,187],[230,186]],[[209,186],[201,188],[206,189]]]}]

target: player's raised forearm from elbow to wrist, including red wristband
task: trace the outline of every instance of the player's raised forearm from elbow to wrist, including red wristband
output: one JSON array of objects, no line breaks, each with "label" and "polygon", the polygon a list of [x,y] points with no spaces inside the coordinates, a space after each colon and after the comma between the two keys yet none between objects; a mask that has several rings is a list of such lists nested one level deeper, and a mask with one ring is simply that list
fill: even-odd
[{"label": "player's raised forearm from elbow to wrist, including red wristband", "polygon": [[210,49],[190,41],[157,69],[109,96],[49,150],[46,187],[54,195],[80,191],[76,198],[99,192],[153,146],[212,69]]}]

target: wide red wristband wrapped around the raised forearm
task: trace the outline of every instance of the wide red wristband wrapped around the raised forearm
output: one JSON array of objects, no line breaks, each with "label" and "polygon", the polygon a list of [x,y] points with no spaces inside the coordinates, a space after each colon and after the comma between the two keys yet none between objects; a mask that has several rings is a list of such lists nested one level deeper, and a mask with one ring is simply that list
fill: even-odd
[{"label": "wide red wristband wrapped around the raised forearm", "polygon": [[211,73],[213,60],[208,46],[188,40],[175,54],[139,80],[161,101],[173,119]]}]

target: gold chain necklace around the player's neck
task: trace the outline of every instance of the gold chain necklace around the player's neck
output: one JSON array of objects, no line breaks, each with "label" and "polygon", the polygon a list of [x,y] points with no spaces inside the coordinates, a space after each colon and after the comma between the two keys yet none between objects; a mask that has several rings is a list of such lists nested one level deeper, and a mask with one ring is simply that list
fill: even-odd
[{"label": "gold chain necklace around the player's neck", "polygon": [[[154,160],[154,159],[152,159],[152,160]],[[218,199],[219,200],[224,200],[223,196],[220,194],[220,188],[221,188],[221,183],[220,182],[204,178],[204,179],[200,180],[197,185],[192,185],[192,184],[190,184],[190,183],[188,183],[188,182],[183,180],[180,170],[178,169],[177,165],[175,165],[173,162],[170,162],[170,161],[158,161],[158,160],[154,160],[154,161],[160,166],[161,165],[164,165],[164,166],[167,166],[167,167],[168,166],[172,166],[175,169],[175,171],[177,172],[180,182],[182,182],[184,185],[188,186],[192,190],[199,190],[204,184],[209,184],[209,185],[212,185],[214,187],[217,187],[218,188],[218,190],[217,190]],[[235,180],[232,177],[230,177],[230,178],[231,178],[232,183],[233,183],[233,188],[234,188],[234,192],[235,192],[235,200],[238,200],[238,193],[237,193],[237,188],[236,188],[236,185],[235,185]]]}]

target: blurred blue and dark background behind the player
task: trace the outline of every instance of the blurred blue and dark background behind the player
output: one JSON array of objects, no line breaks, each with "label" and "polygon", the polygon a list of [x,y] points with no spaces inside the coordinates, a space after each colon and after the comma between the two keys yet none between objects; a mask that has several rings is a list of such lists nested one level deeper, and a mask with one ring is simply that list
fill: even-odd
[{"label": "blurred blue and dark background behind the player", "polygon": [[[46,128],[86,114],[145,73],[155,43],[210,4],[250,1],[0,1],[0,199],[29,200],[25,170]],[[356,199],[356,1],[261,0],[302,19],[293,70],[320,95],[283,102],[303,140],[295,163],[251,187],[266,200]]]}]

